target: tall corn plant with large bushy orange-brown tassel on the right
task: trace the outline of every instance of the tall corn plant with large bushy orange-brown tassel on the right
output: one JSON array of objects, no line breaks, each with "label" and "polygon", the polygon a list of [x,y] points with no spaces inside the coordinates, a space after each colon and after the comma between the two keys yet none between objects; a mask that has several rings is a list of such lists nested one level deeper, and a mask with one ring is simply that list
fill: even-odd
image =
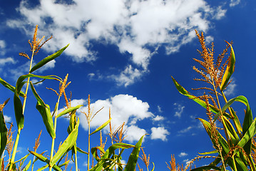
[{"label": "tall corn plant with large bushy orange-brown tassel on the right", "polygon": [[[256,133],[256,118],[252,119],[252,110],[245,96],[237,96],[227,100],[225,96],[225,88],[230,83],[232,73],[235,71],[235,52],[232,48],[232,43],[227,43],[226,48],[214,61],[214,44],[212,43],[211,48],[205,46],[205,40],[203,32],[201,34],[195,31],[202,51],[199,51],[202,60],[195,59],[201,66],[200,70],[193,67],[202,78],[195,78],[195,81],[203,81],[210,84],[211,87],[195,88],[194,90],[209,91],[209,94],[204,93],[201,96],[195,96],[185,90],[183,86],[172,77],[173,83],[178,91],[194,100],[199,105],[206,108],[206,114],[208,121],[203,118],[198,118],[208,133],[210,140],[213,142],[214,151],[203,152],[201,155],[213,155],[217,154],[217,157],[213,162],[207,166],[198,167],[193,170],[226,170],[230,167],[232,170],[256,170],[255,161],[252,159],[252,151],[256,148],[252,145],[252,138]],[[230,56],[227,61],[222,64],[222,60],[227,54],[227,50],[230,48]],[[213,96],[212,96],[213,95]],[[224,99],[225,104],[220,103],[220,97]],[[246,106],[245,118],[242,125],[237,117],[237,113],[231,107],[235,102],[243,103]],[[222,123],[224,134],[220,133],[216,127],[216,121],[219,120]],[[203,156],[207,157],[207,156]],[[190,162],[190,165],[192,162]],[[185,170],[188,169],[185,167]]]}]

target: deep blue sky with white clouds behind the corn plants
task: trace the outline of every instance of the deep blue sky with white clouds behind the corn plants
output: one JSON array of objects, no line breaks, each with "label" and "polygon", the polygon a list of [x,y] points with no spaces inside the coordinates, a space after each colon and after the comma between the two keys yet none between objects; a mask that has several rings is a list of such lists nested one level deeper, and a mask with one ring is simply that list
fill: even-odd
[{"label": "deep blue sky with white clouds behind the corn plants", "polygon": [[[215,43],[215,57],[225,48],[225,41],[233,42],[235,73],[225,93],[229,99],[245,95],[252,111],[256,110],[255,16],[256,2],[252,0],[0,0],[0,77],[14,86],[19,76],[29,72],[29,60],[19,53],[31,56],[27,42],[38,25],[38,38],[53,38],[43,45],[34,64],[69,43],[61,56],[36,74],[65,78],[68,73],[71,84],[66,93],[69,96],[72,92],[71,104],[83,105],[77,112],[81,120],[78,147],[86,150],[88,145],[88,125],[82,112],[87,111],[90,94],[94,113],[104,107],[93,118],[92,130],[108,120],[110,108],[115,128],[126,123],[124,142],[135,144],[146,134],[143,147],[150,154],[150,162],[155,163],[155,170],[168,170],[165,162],[171,155],[185,165],[198,152],[213,150],[203,125],[195,119],[206,120],[205,109],[180,95],[170,77],[200,95],[191,90],[201,85],[193,81],[198,77],[193,71],[198,63],[193,58],[200,58],[195,29],[203,31],[209,47]],[[57,96],[46,87],[57,90],[58,83],[43,81],[35,87],[53,110]],[[5,120],[16,123],[13,93],[4,86],[0,91],[0,103],[11,98],[4,108]],[[51,138],[35,106],[36,99],[29,90],[17,158],[26,155],[28,148],[33,149],[40,130],[39,151],[48,150],[49,155]],[[60,110],[64,106],[62,98]],[[237,111],[242,119],[242,110]],[[66,139],[67,127],[68,119],[59,118],[57,142]],[[107,134],[108,128],[103,130],[103,137]],[[93,135],[92,146],[99,145],[98,139],[98,134]],[[128,158],[123,160],[127,162]],[[78,162],[80,170],[86,170],[86,156],[79,155]],[[38,163],[39,167],[43,165]],[[200,160],[195,165],[208,163]]]}]

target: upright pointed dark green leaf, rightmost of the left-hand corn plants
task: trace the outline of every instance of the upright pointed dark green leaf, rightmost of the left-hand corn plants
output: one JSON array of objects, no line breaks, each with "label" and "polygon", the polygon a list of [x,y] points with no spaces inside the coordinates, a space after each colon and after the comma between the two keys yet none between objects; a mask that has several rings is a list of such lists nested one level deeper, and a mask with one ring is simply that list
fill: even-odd
[{"label": "upright pointed dark green leaf, rightmost of the left-hand corn plants", "polygon": [[133,148],[133,152],[129,156],[125,171],[135,170],[143,138],[144,135],[140,138],[140,140],[136,143],[135,147]]}]

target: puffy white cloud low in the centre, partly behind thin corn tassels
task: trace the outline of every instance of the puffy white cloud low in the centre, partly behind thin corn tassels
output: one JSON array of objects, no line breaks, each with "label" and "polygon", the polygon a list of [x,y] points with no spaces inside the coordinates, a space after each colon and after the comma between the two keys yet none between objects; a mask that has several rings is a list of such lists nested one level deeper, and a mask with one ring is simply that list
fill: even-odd
[{"label": "puffy white cloud low in the centre, partly behind thin corn tassels", "polygon": [[[88,123],[86,121],[86,115],[88,106],[86,106],[86,100],[71,100],[71,106],[84,105],[79,108],[78,116],[80,118],[81,126],[84,130],[88,130]],[[118,128],[123,122],[126,123],[126,140],[129,142],[138,141],[142,135],[145,135],[146,131],[143,128],[139,128],[136,124],[138,120],[153,117],[153,113],[150,113],[149,105],[132,95],[115,95],[106,100],[97,100],[95,103],[91,103],[92,113],[96,113],[104,107],[91,121],[91,128],[98,128],[108,120],[109,108],[111,108],[111,125],[114,130]],[[61,112],[59,110],[59,112]],[[108,131],[108,128],[106,128]]]}]

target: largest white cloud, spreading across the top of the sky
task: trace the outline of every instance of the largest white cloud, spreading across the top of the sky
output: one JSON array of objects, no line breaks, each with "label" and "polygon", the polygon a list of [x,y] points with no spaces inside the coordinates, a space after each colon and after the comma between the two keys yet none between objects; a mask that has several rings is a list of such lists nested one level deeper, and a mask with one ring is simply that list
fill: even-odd
[{"label": "largest white cloud, spreading across the top of the sky", "polygon": [[123,72],[111,77],[123,86],[148,73],[150,58],[159,46],[165,46],[168,54],[175,53],[195,38],[195,28],[208,31],[211,21],[225,16],[225,9],[204,0],[74,0],[71,4],[41,0],[34,7],[22,0],[17,10],[24,19],[8,20],[6,24],[26,29],[26,24],[39,24],[42,35],[55,37],[51,46],[46,44],[46,51],[70,43],[64,53],[73,61],[92,62],[97,60],[97,51],[92,50],[90,42],[98,41],[130,53]]}]

